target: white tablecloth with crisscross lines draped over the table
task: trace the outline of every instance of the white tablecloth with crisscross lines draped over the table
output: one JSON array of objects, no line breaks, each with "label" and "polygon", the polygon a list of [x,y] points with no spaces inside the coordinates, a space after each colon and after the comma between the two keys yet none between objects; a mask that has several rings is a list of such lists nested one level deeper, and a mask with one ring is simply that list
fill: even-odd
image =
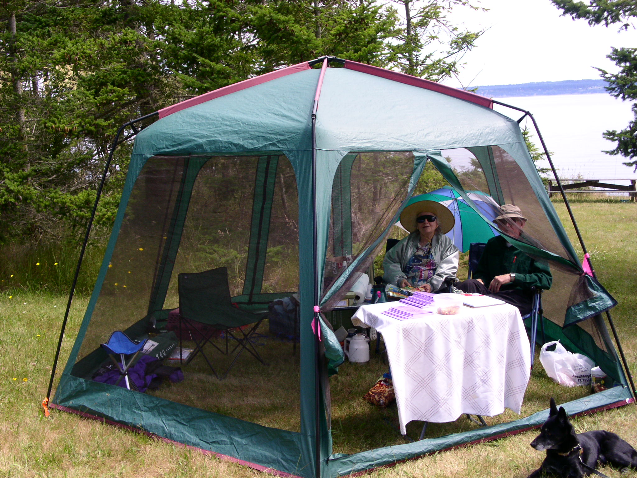
[{"label": "white tablecloth with crisscross lines draped over the table", "polygon": [[456,315],[408,320],[382,314],[398,302],[364,305],[352,322],[383,335],[401,433],[412,420],[443,423],[464,413],[520,413],[531,373],[531,347],[512,305],[461,307]]}]

